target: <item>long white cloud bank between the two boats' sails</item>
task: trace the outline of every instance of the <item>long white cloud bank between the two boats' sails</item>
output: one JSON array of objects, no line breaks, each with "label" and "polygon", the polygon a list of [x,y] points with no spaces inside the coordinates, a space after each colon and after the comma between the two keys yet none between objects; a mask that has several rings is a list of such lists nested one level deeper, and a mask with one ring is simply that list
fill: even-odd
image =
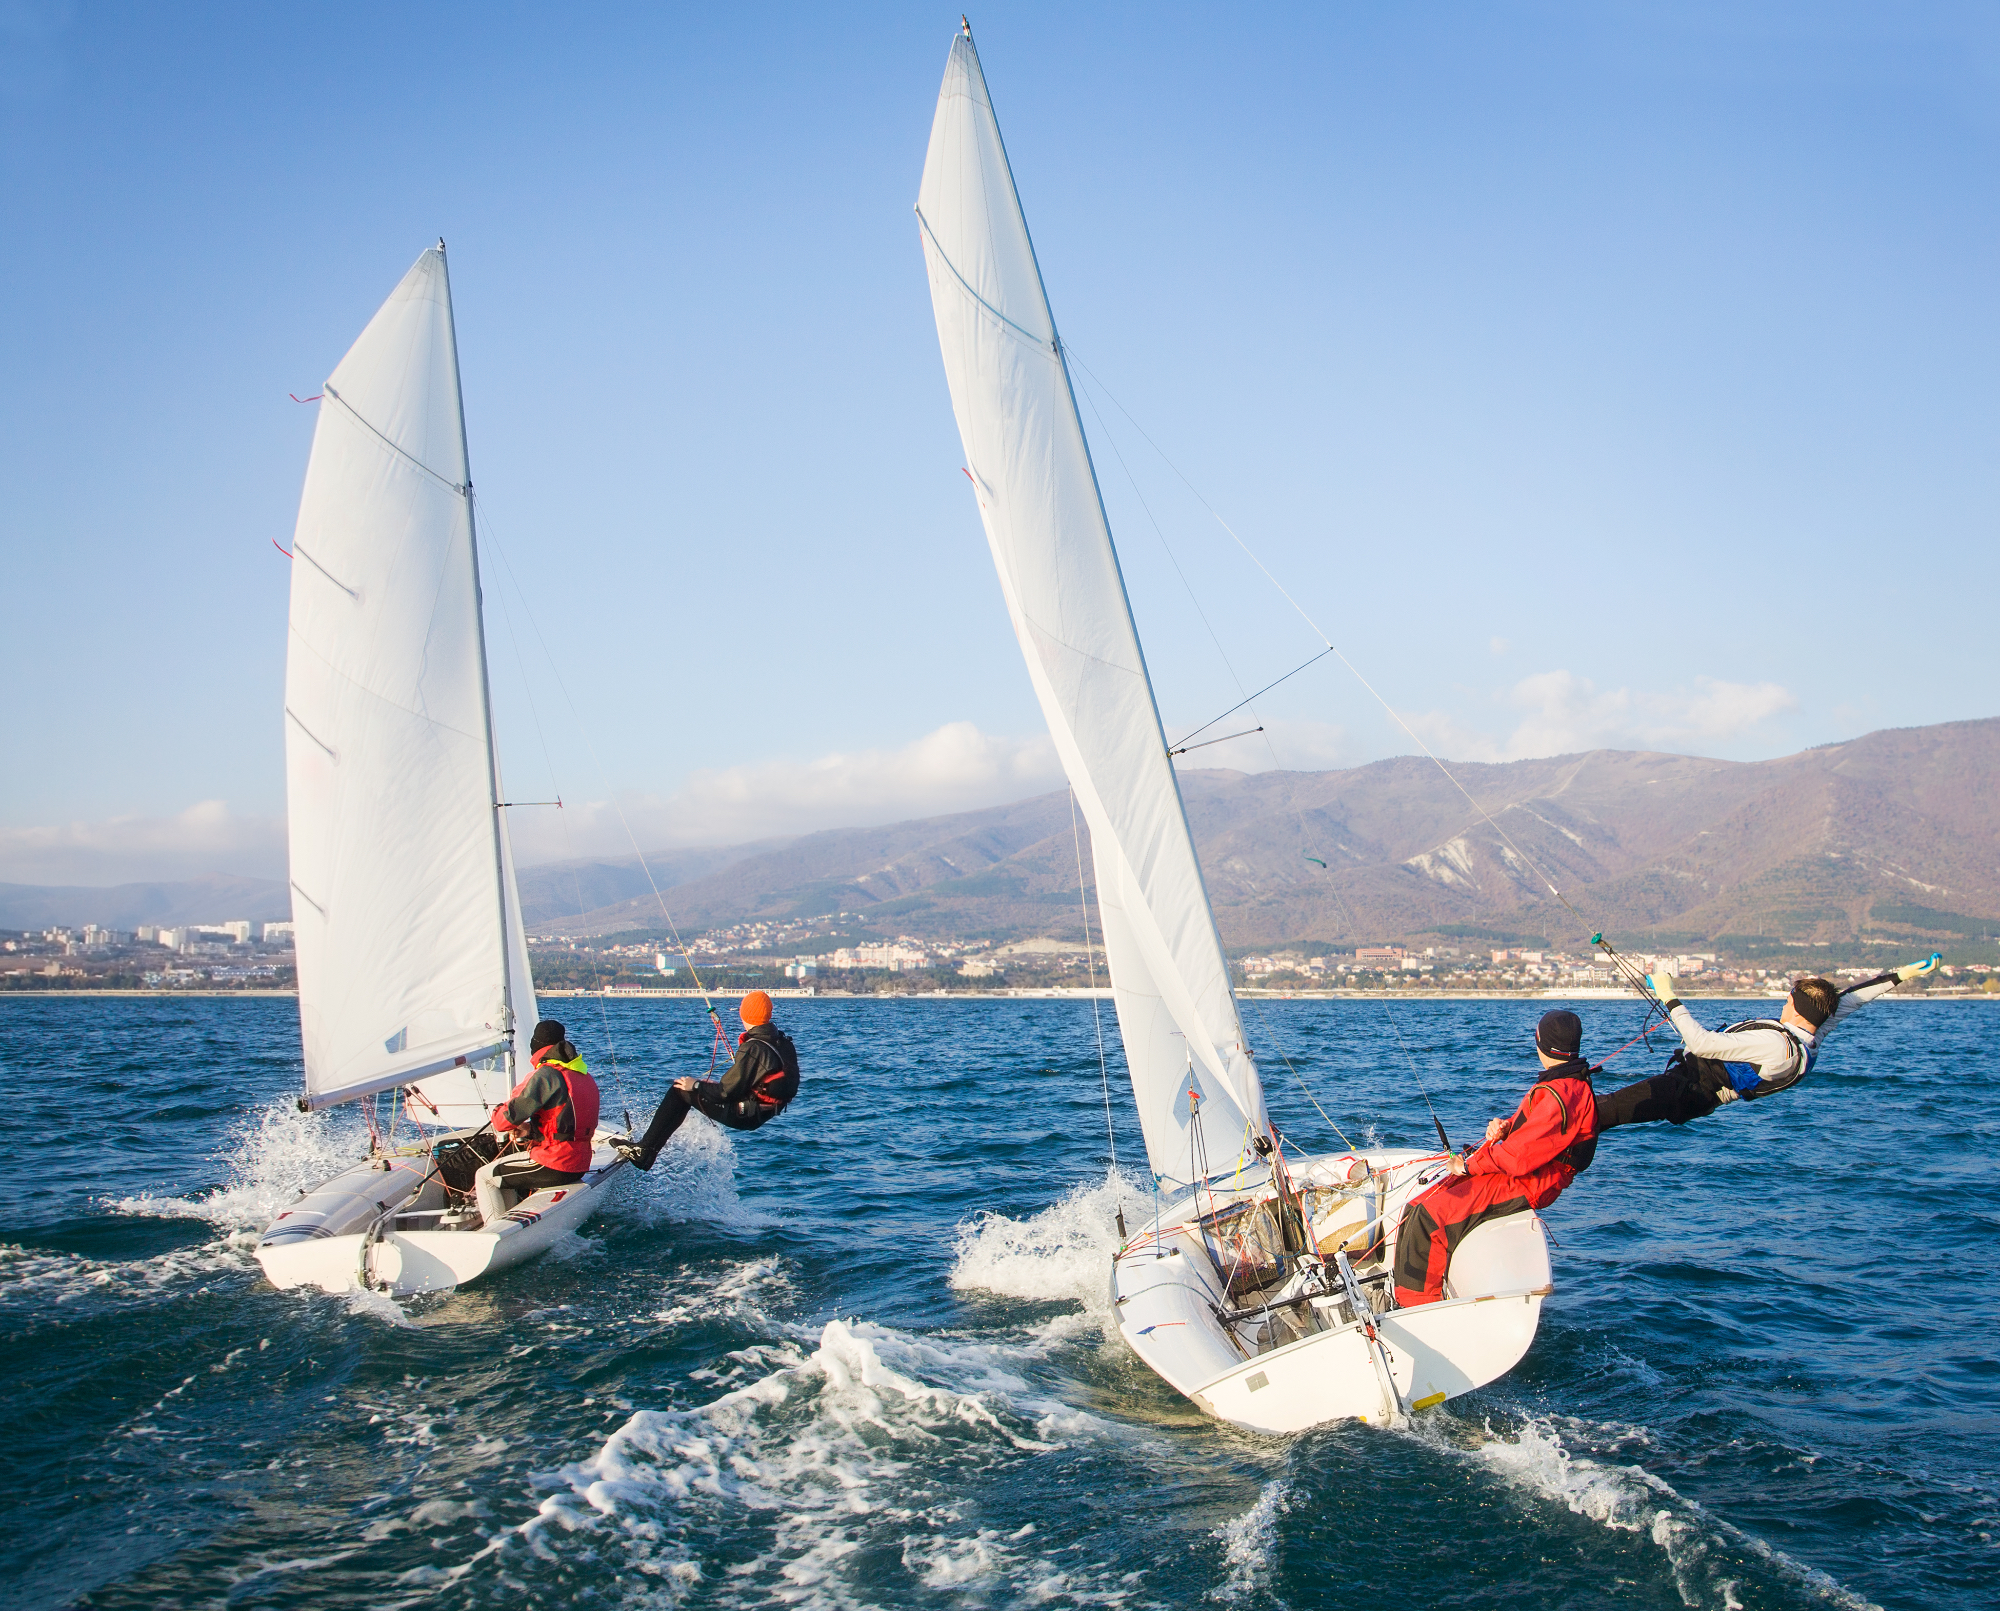
[{"label": "long white cloud bank between the two boats' sails", "polygon": [[[950,722],[900,750],[854,750],[810,762],[752,762],[696,772],[674,794],[516,811],[516,859],[628,855],[640,847],[728,845],[820,827],[974,811],[1062,788],[1046,734],[996,738]],[[630,825],[630,837],[626,831]]]}]

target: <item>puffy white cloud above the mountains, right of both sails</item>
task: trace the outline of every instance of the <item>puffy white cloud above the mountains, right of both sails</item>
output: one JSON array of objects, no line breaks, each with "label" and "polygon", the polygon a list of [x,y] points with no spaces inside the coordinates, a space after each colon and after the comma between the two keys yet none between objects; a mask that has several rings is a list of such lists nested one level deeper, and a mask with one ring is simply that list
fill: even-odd
[{"label": "puffy white cloud above the mountains, right of both sails", "polygon": [[1502,740],[1438,712],[1412,718],[1410,726],[1456,760],[1518,762],[1578,750],[1714,748],[1796,708],[1798,700],[1774,682],[1696,678],[1694,688],[1648,694],[1600,690],[1574,672],[1538,672],[1506,690],[1500,704],[1520,712]]}]

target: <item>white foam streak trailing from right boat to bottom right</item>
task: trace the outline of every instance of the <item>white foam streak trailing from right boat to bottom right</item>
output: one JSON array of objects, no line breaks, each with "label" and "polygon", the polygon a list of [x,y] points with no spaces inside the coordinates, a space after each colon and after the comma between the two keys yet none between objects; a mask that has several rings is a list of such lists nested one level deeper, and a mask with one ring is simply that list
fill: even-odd
[{"label": "white foam streak trailing from right boat to bottom right", "polygon": [[[1452,1425],[1452,1417],[1432,1419],[1434,1431],[1446,1431]],[[1606,1441],[1612,1447],[1630,1447],[1650,1441],[1640,1427],[1588,1427],[1580,1421],[1564,1421],[1564,1425],[1580,1443]],[[1466,1423],[1456,1423],[1456,1427],[1470,1431]],[[1530,1417],[1512,1439],[1486,1427],[1482,1437],[1474,1437],[1472,1455],[1508,1481],[1530,1487],[1576,1515],[1620,1533],[1648,1537],[1666,1557],[1684,1605],[1716,1605],[1724,1611],[1740,1605],[1738,1573],[1742,1571],[1742,1553],[1750,1553],[1844,1611],[1882,1611],[1874,1601],[1852,1593],[1818,1567],[1794,1561],[1752,1533],[1712,1515],[1644,1467],[1610,1465],[1590,1455],[1572,1453],[1564,1445],[1556,1421]]]}]

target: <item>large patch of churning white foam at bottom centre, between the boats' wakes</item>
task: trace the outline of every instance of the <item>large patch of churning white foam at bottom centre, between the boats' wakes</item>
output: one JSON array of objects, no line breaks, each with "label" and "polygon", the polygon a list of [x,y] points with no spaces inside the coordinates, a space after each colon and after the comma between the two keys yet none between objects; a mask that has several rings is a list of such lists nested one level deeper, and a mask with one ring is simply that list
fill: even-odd
[{"label": "large patch of churning white foam at bottom centre, between the boats' wakes", "polygon": [[[874,1603],[846,1573],[862,1551],[894,1551],[910,1587],[1016,1599],[1118,1599],[1072,1561],[1058,1565],[1034,1529],[1002,1533],[936,1503],[952,1481],[1062,1447],[1050,1427],[1092,1417],[1038,1395],[1000,1345],[918,1339],[864,1321],[828,1321],[810,1351],[762,1345],[766,1365],[694,1409],[638,1411],[590,1459],[558,1473],[564,1491],[522,1527],[530,1549],[560,1553],[570,1533],[592,1549],[616,1539],[654,1583],[692,1581],[718,1525],[764,1531],[740,1591],[800,1605]],[[878,1567],[876,1567],[878,1569]]]}]

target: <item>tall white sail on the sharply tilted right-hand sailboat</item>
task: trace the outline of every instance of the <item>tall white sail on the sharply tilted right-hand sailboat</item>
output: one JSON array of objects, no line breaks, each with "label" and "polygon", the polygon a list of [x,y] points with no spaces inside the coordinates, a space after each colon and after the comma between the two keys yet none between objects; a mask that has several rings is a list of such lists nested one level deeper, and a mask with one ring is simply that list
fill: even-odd
[{"label": "tall white sail on the sharply tilted right-hand sailboat", "polygon": [[[952,412],[1048,732],[1090,821],[1118,1029],[1156,1175],[1234,1167],[1268,1127],[1228,961],[986,78],[944,68],[918,232]],[[1196,1159],[1190,1081],[1202,1093]]]}]

